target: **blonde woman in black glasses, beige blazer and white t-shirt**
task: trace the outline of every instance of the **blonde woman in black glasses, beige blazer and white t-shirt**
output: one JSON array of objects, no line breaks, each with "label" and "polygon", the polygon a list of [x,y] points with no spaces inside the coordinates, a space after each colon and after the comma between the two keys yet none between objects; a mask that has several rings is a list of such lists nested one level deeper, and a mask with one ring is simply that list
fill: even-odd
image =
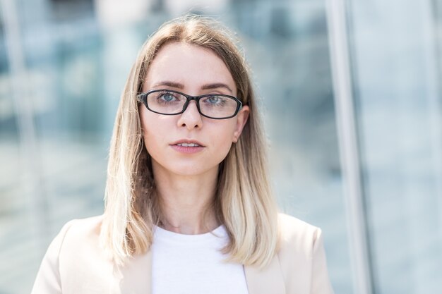
[{"label": "blonde woman in black glasses, beige blazer and white t-shirt", "polygon": [[68,222],[32,293],[333,293],[321,230],[277,214],[244,57],[208,18],[143,45],[102,216]]}]

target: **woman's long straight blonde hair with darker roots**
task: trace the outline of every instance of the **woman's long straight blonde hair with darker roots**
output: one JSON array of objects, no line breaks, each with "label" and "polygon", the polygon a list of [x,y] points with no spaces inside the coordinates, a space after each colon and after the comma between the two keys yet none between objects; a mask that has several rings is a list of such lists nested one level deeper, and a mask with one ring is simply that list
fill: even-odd
[{"label": "woman's long straight blonde hair with darker roots", "polygon": [[217,54],[236,82],[238,98],[250,108],[241,137],[220,164],[213,203],[230,238],[224,248],[227,260],[263,267],[277,251],[277,206],[268,180],[265,136],[244,56],[229,34],[215,20],[184,16],[162,25],[138,54],[121,94],[107,169],[101,241],[117,264],[150,250],[153,226],[161,219],[136,95],[157,52],[170,42]]}]

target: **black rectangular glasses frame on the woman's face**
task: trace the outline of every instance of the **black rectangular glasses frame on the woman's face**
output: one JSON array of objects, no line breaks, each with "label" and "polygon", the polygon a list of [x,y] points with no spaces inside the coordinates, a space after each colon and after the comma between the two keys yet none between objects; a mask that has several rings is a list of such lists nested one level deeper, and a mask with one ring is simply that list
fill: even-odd
[{"label": "black rectangular glasses frame on the woman's face", "polygon": [[[180,94],[180,95],[183,95],[184,97],[186,97],[187,101],[184,103],[183,109],[181,111],[177,112],[176,114],[163,114],[162,112],[154,111],[154,110],[149,108],[148,95],[152,94],[152,93],[155,93],[155,92],[170,92],[170,93]],[[237,102],[237,109],[235,110],[235,113],[232,116],[226,116],[226,117],[222,117],[222,118],[214,118],[212,116],[207,116],[207,115],[203,114],[201,112],[201,109],[200,109],[200,99],[202,99],[204,97],[210,97],[210,96],[220,96],[220,97],[228,97],[230,99],[234,99],[234,101]],[[155,114],[163,114],[165,116],[176,116],[178,114],[182,114],[184,111],[186,111],[187,106],[189,106],[189,102],[191,102],[192,100],[194,100],[196,102],[196,109],[198,109],[198,112],[202,116],[205,116],[206,118],[212,118],[212,119],[232,118],[232,117],[236,116],[238,114],[238,111],[242,108],[242,102],[237,97],[234,97],[234,96],[225,95],[225,94],[204,94],[204,95],[199,95],[199,96],[191,96],[191,95],[188,95],[188,94],[184,94],[182,92],[178,92],[178,91],[174,91],[174,90],[167,90],[167,89],[150,90],[148,92],[144,92],[144,93],[138,94],[137,95],[137,100],[138,100],[138,102],[143,103],[144,106],[146,106],[147,109],[149,109],[152,112],[155,112]]]}]

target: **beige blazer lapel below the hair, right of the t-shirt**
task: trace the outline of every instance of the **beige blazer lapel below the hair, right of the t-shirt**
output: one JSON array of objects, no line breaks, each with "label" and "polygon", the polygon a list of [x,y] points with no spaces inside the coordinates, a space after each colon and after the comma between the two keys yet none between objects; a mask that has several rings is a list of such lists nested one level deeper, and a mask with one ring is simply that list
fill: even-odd
[{"label": "beige blazer lapel below the hair, right of the t-shirt", "polygon": [[285,284],[277,255],[263,269],[244,266],[249,294],[284,294]]}]

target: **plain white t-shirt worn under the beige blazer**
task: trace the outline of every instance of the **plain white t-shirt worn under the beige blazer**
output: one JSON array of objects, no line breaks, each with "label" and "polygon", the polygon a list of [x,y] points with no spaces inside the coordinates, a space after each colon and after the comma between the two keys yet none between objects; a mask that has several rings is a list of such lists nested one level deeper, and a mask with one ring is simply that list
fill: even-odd
[{"label": "plain white t-shirt worn under the beige blazer", "polygon": [[242,264],[220,252],[229,240],[225,226],[184,235],[156,227],[152,245],[153,294],[248,294]]}]

